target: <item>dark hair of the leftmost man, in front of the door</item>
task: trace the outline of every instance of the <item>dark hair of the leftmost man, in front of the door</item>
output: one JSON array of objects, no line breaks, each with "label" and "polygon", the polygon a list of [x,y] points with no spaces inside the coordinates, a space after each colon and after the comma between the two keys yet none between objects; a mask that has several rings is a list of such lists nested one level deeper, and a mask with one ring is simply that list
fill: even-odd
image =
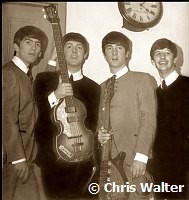
[{"label": "dark hair of the leftmost man, in front of the door", "polygon": [[25,37],[35,38],[41,42],[41,58],[43,58],[48,45],[47,35],[35,26],[24,26],[15,33],[14,43],[19,46]]}]

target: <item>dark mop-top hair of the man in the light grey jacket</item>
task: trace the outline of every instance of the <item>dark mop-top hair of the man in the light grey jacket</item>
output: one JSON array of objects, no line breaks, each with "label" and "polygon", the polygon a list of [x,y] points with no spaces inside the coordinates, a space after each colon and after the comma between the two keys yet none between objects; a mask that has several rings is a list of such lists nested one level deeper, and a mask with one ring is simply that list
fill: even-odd
[{"label": "dark mop-top hair of the man in the light grey jacket", "polygon": [[112,31],[108,33],[103,39],[102,39],[102,52],[105,54],[105,46],[107,44],[118,44],[125,48],[125,51],[130,51],[132,42],[131,40],[124,35],[123,33]]}]

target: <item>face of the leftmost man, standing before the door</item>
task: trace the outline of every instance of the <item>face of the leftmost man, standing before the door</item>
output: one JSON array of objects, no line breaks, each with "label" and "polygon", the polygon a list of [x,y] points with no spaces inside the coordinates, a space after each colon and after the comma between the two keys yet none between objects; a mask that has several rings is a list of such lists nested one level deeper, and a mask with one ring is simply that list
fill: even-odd
[{"label": "face of the leftmost man, standing before the door", "polygon": [[16,56],[18,56],[26,66],[34,63],[41,56],[41,42],[38,39],[25,37],[18,46],[14,44]]}]

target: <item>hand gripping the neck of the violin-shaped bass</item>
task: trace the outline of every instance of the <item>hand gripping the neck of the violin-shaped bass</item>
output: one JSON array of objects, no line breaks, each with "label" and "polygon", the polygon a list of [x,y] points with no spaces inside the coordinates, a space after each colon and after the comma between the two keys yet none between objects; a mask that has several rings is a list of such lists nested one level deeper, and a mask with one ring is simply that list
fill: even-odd
[{"label": "hand gripping the neck of the violin-shaped bass", "polygon": [[62,83],[62,78],[59,76],[59,84],[57,89],[54,91],[57,99],[64,98],[66,96],[73,95],[73,89],[71,83]]}]

